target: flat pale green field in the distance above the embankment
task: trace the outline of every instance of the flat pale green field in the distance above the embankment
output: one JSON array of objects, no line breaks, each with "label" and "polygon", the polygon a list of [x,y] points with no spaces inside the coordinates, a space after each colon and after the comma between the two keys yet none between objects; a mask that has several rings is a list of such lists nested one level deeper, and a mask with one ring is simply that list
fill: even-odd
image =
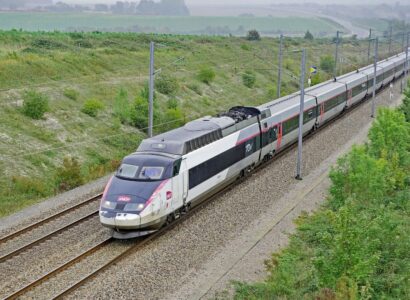
[{"label": "flat pale green field in the distance above the embankment", "polygon": [[0,13],[0,29],[45,31],[131,31],[173,34],[243,35],[257,29],[264,35],[331,35],[342,26],[315,17],[144,17],[93,13]]}]

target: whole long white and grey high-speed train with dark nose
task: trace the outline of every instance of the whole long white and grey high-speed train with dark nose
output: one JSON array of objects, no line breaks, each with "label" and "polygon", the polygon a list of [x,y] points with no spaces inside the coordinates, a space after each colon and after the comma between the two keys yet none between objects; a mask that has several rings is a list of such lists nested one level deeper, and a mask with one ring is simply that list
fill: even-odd
[{"label": "whole long white and grey high-speed train with dark nose", "polygon": [[[379,62],[376,89],[403,75],[405,54]],[[303,133],[373,92],[374,66],[306,90]],[[233,107],[144,140],[104,191],[100,221],[120,239],[151,234],[298,137],[300,94],[258,107]]]}]

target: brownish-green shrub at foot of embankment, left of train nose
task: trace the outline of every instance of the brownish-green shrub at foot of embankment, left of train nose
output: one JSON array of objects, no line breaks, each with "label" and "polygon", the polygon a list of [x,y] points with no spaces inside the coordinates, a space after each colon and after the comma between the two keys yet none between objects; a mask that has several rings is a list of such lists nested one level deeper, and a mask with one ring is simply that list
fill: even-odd
[{"label": "brownish-green shrub at foot of embankment, left of train nose", "polygon": [[63,165],[56,172],[56,186],[59,191],[68,191],[84,183],[81,165],[74,157],[65,157]]}]

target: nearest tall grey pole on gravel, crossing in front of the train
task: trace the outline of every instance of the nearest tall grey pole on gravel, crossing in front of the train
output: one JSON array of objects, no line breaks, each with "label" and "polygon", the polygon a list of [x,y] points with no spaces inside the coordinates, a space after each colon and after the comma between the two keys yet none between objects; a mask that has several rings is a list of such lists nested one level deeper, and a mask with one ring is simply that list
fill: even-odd
[{"label": "nearest tall grey pole on gravel, crossing in front of the train", "polygon": [[305,73],[306,73],[306,49],[302,50],[302,63],[300,74],[300,112],[299,112],[299,139],[298,139],[298,163],[296,179],[302,180],[302,151],[303,151],[303,117],[305,111]]}]

